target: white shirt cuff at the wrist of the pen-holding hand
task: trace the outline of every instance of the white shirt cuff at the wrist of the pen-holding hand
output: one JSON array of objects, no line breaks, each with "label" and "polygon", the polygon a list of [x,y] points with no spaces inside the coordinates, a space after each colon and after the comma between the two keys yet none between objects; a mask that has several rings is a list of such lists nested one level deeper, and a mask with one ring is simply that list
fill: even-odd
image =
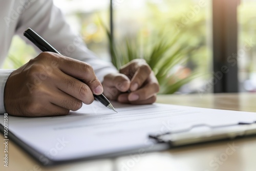
[{"label": "white shirt cuff at the wrist of the pen-holding hand", "polygon": [[0,69],[0,114],[6,113],[4,104],[5,83],[13,71]]}]

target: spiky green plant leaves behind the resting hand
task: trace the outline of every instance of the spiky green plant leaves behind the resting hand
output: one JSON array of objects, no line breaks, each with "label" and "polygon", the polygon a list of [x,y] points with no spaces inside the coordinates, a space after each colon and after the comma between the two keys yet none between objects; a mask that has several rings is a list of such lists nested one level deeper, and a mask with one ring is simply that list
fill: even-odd
[{"label": "spiky green plant leaves behind the resting hand", "polygon": [[[177,65],[184,65],[187,61],[187,54],[195,49],[186,46],[186,42],[179,41],[182,34],[172,34],[171,39],[167,39],[169,33],[156,33],[154,41],[145,40],[147,44],[141,45],[138,37],[126,37],[125,40],[115,44],[110,31],[105,27],[111,48],[112,63],[117,69],[133,59],[143,58],[154,71],[160,84],[160,94],[173,94],[184,84],[198,76],[197,73],[186,74],[179,70],[179,73],[172,73]],[[153,35],[151,35],[153,36]],[[142,47],[144,46],[144,47]],[[142,49],[142,50],[141,50]]]}]

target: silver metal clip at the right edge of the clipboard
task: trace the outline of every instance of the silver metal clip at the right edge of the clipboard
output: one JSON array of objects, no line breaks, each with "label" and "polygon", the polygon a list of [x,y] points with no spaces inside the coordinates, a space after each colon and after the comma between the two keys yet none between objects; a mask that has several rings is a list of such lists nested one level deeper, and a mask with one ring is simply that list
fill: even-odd
[{"label": "silver metal clip at the right edge of the clipboard", "polygon": [[[210,130],[200,131],[200,127]],[[197,131],[193,130],[197,128]],[[183,146],[217,140],[234,139],[238,137],[256,135],[256,121],[252,123],[240,122],[233,125],[210,126],[206,124],[193,125],[189,129],[178,132],[167,132],[159,135],[149,135],[158,143],[168,143],[172,146]]]}]

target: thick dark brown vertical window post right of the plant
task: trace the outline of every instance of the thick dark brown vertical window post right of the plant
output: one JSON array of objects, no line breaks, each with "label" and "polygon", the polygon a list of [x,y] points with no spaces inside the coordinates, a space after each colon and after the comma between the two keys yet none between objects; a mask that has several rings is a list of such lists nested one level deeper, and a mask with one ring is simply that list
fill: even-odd
[{"label": "thick dark brown vertical window post right of the plant", "polygon": [[238,3],[212,0],[214,93],[238,92],[238,64],[230,61],[238,51]]}]

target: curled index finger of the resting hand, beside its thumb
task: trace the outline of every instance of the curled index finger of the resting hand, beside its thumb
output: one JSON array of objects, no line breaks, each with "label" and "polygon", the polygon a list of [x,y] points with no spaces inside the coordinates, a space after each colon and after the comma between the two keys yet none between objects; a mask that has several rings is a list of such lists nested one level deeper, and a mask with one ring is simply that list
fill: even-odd
[{"label": "curled index finger of the resting hand, beside its thumb", "polygon": [[145,63],[135,72],[131,80],[131,91],[138,90],[151,74],[151,68]]}]

